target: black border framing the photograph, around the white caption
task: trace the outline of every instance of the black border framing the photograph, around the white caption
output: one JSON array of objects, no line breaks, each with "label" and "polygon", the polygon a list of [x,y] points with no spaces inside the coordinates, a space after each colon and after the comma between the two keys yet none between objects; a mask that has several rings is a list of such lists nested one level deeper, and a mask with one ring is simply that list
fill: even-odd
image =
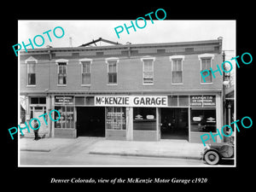
[{"label": "black border framing the photograph, around the white caption", "polygon": [[[236,3],[234,3],[236,5]],[[178,6],[178,9],[177,9]],[[207,9],[206,9],[207,6]],[[65,187],[73,189],[73,186],[84,186],[85,184],[52,184],[49,183],[51,177],[71,178],[71,177],[207,177],[208,182],[201,189],[208,189],[209,184],[218,186],[224,184],[226,187],[236,186],[236,184],[252,184],[253,177],[248,173],[253,167],[253,127],[241,129],[237,133],[237,161],[236,167],[17,167],[17,139],[12,141],[9,137],[8,128],[17,125],[17,96],[18,96],[18,68],[12,45],[17,44],[18,20],[135,20],[137,17],[155,11],[165,9],[166,20],[236,20],[236,55],[249,52],[253,55],[253,12],[251,5],[247,3],[225,4],[222,2],[210,3],[169,3],[167,5],[157,5],[147,3],[131,2],[108,2],[104,5],[98,2],[97,5],[88,2],[61,2],[53,5],[50,2],[24,3],[22,6],[10,6],[11,10],[6,18],[7,27],[3,38],[3,100],[6,101],[3,122],[3,159],[4,159],[4,185],[24,187],[25,189],[52,189]],[[4,74],[4,73],[3,73]],[[241,64],[241,68],[236,71],[236,119],[249,116],[253,119],[253,63],[250,65]],[[251,85],[250,88],[248,85]],[[4,102],[3,102],[4,103]],[[16,184],[17,185],[16,185]],[[15,184],[15,185],[14,185]],[[170,183],[169,183],[170,184]],[[172,183],[171,183],[172,184]],[[109,184],[110,185],[110,184]],[[125,184],[126,185],[126,184]],[[135,187],[142,184],[130,184]],[[144,184],[143,184],[144,185]],[[163,184],[167,186],[168,184]],[[174,185],[174,184],[172,184]],[[177,185],[177,184],[175,184]],[[174,185],[174,186],[175,186]],[[104,187],[105,185],[99,185]],[[123,184],[115,185],[121,186]],[[151,187],[151,184],[148,184]],[[178,184],[178,186],[184,186]],[[191,186],[191,185],[187,185]],[[217,188],[217,189],[223,189]]]}]

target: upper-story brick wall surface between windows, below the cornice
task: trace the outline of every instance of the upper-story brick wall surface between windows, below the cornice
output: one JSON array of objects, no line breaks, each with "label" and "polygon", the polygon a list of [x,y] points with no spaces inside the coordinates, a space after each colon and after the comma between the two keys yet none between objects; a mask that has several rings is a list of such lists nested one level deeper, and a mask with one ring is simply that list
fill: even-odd
[{"label": "upper-story brick wall surface between windows, below the cornice", "polygon": [[[92,61],[91,85],[82,86],[79,59],[68,59],[67,86],[57,85],[57,65],[55,60],[40,60],[36,67],[36,87],[27,87],[26,64],[20,62],[21,90],[209,90],[222,88],[222,76],[215,73],[212,84],[201,84],[201,63],[198,55],[185,55],[183,61],[183,84],[172,84],[172,65],[169,56],[156,57],[154,61],[154,84],[143,85],[143,61],[140,58],[119,58],[117,85],[108,85],[108,65],[104,58]],[[221,55],[215,55],[212,69],[220,65]],[[50,66],[50,67],[49,67]],[[49,77],[50,73],[50,77]],[[50,80],[50,87],[49,87]]]}]

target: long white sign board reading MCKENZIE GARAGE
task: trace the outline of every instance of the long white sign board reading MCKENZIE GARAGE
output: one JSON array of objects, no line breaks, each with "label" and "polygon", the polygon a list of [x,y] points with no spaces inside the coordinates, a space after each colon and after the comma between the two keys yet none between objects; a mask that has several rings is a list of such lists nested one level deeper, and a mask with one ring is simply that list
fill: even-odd
[{"label": "long white sign board reading MCKENZIE GARAGE", "polygon": [[167,107],[167,96],[95,96],[95,106]]}]

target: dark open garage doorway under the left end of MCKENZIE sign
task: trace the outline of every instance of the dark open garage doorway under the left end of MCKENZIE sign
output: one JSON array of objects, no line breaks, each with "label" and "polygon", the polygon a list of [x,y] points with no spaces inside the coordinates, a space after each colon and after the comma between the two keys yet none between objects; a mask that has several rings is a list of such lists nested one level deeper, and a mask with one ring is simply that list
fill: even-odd
[{"label": "dark open garage doorway under the left end of MCKENZIE sign", "polygon": [[105,137],[105,108],[77,107],[77,136]]}]

